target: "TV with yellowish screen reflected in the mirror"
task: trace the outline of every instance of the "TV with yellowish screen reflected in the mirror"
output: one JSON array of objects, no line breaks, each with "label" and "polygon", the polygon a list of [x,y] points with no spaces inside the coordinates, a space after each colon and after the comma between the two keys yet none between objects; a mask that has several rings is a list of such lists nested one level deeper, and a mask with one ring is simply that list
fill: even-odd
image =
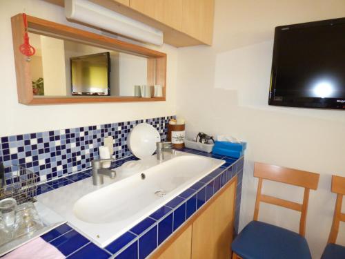
[{"label": "TV with yellowish screen reflected in the mirror", "polygon": [[72,95],[110,95],[110,52],[70,58]]}]

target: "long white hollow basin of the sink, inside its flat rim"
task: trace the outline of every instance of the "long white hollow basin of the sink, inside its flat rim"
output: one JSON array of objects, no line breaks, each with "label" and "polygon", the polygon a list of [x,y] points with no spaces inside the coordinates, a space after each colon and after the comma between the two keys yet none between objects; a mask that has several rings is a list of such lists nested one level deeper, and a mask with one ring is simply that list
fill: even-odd
[{"label": "long white hollow basin of the sink, inside its flat rim", "polygon": [[206,157],[178,156],[83,196],[73,212],[80,220],[96,224],[136,218],[142,211],[157,209],[157,204],[175,197],[190,180],[213,166],[214,160]]}]

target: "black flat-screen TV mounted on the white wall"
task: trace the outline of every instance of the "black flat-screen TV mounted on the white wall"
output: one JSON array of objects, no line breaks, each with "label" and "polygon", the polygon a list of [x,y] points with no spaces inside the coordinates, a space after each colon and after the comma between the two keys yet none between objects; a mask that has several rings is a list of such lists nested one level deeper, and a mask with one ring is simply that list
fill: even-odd
[{"label": "black flat-screen TV mounted on the white wall", "polygon": [[268,104],[345,109],[345,18],[275,28]]}]

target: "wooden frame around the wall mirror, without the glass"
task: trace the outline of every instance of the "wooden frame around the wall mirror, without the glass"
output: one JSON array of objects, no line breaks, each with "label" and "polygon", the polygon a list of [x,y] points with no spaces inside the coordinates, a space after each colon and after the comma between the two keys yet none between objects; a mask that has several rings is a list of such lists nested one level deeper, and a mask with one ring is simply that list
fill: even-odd
[{"label": "wooden frame around the wall mirror, without the glass", "polygon": [[19,46],[23,44],[25,32],[23,15],[18,14],[11,17],[12,37],[14,50],[14,63],[16,67],[18,102],[20,104],[80,104],[97,102],[156,102],[166,100],[166,53],[130,44],[118,39],[98,35],[86,30],[80,30],[60,23],[39,19],[27,15],[28,31],[39,32],[40,35],[53,36],[59,39],[69,39],[81,42],[90,46],[107,48],[127,52],[130,54],[146,57],[148,59],[147,83],[148,85],[159,84],[163,86],[163,97],[141,98],[141,97],[117,97],[117,96],[81,96],[81,97],[59,97],[44,96],[34,97],[32,93],[32,77],[30,66],[26,56],[21,54]]}]

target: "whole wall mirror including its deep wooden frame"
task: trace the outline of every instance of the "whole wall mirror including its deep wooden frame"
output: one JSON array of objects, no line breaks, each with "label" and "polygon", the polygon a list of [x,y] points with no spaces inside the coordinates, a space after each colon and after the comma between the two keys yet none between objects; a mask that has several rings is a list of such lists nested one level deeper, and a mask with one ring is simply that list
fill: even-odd
[{"label": "whole wall mirror including its deep wooden frame", "polygon": [[166,100],[166,54],[86,30],[26,16],[31,57],[20,51],[23,15],[11,17],[21,104]]}]

